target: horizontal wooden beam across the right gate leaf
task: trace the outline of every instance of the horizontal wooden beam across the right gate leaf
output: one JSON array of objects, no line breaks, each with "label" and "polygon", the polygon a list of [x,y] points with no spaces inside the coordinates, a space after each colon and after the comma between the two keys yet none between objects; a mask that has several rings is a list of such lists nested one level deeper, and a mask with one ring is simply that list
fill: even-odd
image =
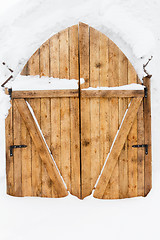
[{"label": "horizontal wooden beam across the right gate leaf", "polygon": [[144,97],[144,90],[81,90],[83,98]]}]

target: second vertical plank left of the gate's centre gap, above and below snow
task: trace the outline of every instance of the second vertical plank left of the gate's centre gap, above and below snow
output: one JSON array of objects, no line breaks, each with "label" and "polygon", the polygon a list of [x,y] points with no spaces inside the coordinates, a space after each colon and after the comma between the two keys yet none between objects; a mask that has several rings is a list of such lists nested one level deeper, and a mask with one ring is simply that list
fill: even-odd
[{"label": "second vertical plank left of the gate's centre gap, above and below snow", "polygon": [[[69,79],[68,28],[59,33],[60,57],[59,76]],[[71,191],[70,181],[70,99],[61,99],[61,173]]]}]

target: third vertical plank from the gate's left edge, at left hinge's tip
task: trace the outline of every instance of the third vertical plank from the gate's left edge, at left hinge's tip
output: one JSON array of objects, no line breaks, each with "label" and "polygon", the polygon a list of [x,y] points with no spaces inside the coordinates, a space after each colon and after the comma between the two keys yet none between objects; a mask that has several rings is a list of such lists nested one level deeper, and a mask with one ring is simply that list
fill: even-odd
[{"label": "third vertical plank from the gate's left edge, at left hinge's tip", "polygon": [[22,196],[32,196],[31,137],[22,118],[21,118],[21,143],[24,145],[27,145],[26,148],[21,149],[22,151]]}]

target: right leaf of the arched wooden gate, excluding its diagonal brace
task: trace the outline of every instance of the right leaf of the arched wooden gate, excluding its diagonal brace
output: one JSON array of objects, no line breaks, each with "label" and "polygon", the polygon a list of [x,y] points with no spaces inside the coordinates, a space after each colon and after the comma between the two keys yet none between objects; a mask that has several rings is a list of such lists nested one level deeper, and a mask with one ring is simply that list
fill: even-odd
[{"label": "right leaf of the arched wooden gate, excluding its diagonal brace", "polygon": [[[95,187],[131,98],[119,98],[113,96],[114,94],[110,97],[94,97],[94,94],[92,97],[82,97],[82,89],[117,87],[141,82],[122,51],[104,34],[83,23],[79,25],[79,49],[80,77],[85,79],[85,83],[80,85],[81,177],[84,198],[90,195]],[[149,99],[149,96],[146,99]],[[150,118],[150,111],[147,114],[144,109],[146,99],[140,103],[103,196],[99,198],[145,196],[151,188],[151,153],[145,156],[143,148],[132,148],[132,145],[148,142],[145,118]],[[150,124],[148,126],[150,129]],[[150,146],[151,142],[148,144]],[[148,156],[150,160],[146,161]],[[145,172],[147,162],[150,167],[147,167]]]}]

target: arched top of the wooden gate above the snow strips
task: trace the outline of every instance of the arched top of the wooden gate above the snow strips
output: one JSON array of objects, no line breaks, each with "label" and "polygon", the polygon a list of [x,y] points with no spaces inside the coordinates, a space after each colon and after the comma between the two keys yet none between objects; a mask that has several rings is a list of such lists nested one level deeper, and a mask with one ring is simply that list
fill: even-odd
[{"label": "arched top of the wooden gate above the snow strips", "polygon": [[117,45],[81,22],[43,43],[28,60],[21,75],[84,78],[83,88],[140,83],[134,67]]}]

